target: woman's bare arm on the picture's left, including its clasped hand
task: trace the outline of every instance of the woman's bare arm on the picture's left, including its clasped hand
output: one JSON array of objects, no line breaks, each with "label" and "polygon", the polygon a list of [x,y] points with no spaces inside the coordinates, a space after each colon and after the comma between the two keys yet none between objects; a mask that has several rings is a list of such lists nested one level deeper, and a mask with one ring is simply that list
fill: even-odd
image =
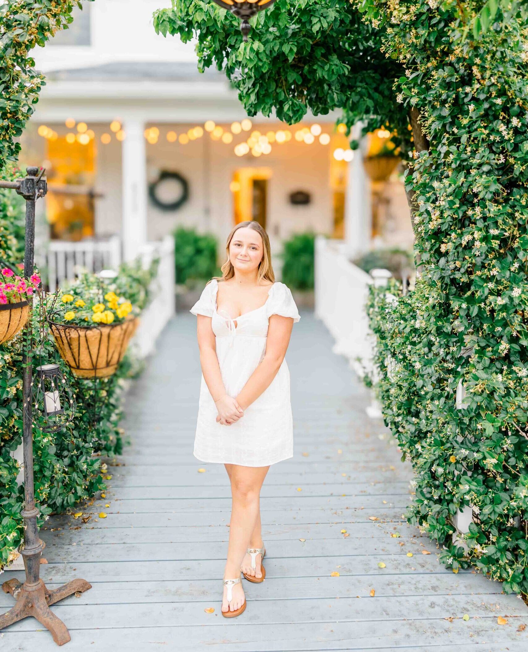
[{"label": "woman's bare arm on the picture's left, including its clasped hand", "polygon": [[214,403],[218,409],[217,421],[225,423],[228,417],[230,421],[238,421],[243,414],[241,406],[232,396],[227,396],[226,387],[222,380],[220,364],[216,355],[216,337],[211,326],[211,317],[198,315],[198,346],[200,349],[201,372],[209,393],[213,396]]}]

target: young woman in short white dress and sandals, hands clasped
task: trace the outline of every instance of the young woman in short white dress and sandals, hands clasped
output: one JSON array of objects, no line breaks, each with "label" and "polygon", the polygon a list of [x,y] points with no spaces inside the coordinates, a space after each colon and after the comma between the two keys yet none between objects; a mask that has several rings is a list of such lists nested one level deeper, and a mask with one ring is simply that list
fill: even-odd
[{"label": "young woman in short white dress and sandals, hands clasped", "polygon": [[260,489],[271,464],[293,456],[289,369],[284,355],[301,319],[291,291],[274,281],[269,238],[241,222],[227,238],[222,278],[207,283],[198,316],[202,370],[194,456],[226,466],[231,522],[222,615],[246,608],[241,571],[262,582]]}]

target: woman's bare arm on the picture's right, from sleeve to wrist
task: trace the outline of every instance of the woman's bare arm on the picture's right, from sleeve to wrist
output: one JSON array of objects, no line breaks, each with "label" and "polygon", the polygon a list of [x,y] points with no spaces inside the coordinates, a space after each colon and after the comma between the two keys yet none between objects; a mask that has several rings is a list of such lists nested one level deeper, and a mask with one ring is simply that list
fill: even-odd
[{"label": "woman's bare arm on the picture's right, from sleeve to wrist", "polygon": [[281,315],[271,315],[269,318],[266,353],[237,396],[239,406],[243,410],[271,385],[286,355],[291,329],[293,329],[293,318]]}]

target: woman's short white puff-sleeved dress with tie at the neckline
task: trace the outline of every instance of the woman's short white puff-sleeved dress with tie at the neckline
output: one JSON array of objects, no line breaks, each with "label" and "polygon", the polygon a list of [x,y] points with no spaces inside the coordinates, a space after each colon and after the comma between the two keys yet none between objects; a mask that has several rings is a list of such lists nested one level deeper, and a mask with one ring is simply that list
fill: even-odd
[{"label": "woman's short white puff-sleeved dress with tie at the neckline", "polygon": [[[222,311],[218,314],[217,291],[218,281],[213,279],[190,312],[212,318],[222,381],[226,393],[236,398],[264,357],[270,316],[293,317],[294,323],[301,316],[291,291],[281,282],[271,286],[263,306],[235,319]],[[246,408],[239,421],[225,426],[216,422],[217,415],[213,396],[202,374],[194,439],[194,456],[201,462],[268,466],[293,457],[293,418],[286,360],[282,361],[269,387]]]}]

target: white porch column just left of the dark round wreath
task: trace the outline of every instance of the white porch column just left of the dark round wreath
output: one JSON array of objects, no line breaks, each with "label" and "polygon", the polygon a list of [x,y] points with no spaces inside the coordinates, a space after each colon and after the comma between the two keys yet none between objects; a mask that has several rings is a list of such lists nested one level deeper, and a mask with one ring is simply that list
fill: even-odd
[{"label": "white porch column just left of the dark round wreath", "polygon": [[123,258],[134,259],[147,242],[147,164],[145,125],[138,119],[123,123],[125,140],[122,147],[123,187]]}]

